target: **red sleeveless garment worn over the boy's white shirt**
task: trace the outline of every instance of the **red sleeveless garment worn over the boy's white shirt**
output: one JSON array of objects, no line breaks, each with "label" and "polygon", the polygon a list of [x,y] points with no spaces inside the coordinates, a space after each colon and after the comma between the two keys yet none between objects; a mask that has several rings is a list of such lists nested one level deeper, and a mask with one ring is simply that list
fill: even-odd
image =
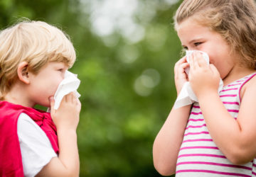
[{"label": "red sleeveless garment worn over the boy's white shirt", "polygon": [[58,137],[50,113],[0,101],[0,176],[23,176],[21,149],[17,134],[17,122],[21,113],[26,113],[41,127],[58,154]]}]

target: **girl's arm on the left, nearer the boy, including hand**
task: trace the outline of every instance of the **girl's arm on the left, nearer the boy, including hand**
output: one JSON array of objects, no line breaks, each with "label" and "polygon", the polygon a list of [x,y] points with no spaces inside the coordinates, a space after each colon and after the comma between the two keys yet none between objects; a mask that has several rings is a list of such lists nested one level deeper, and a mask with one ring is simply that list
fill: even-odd
[{"label": "girl's arm on the left, nearer the boy, including hand", "polygon": [[[180,59],[175,67],[175,84],[177,93],[181,91],[187,81],[184,68],[188,67],[185,58]],[[172,109],[166,122],[159,131],[153,146],[154,166],[161,175],[167,176],[175,173],[178,151],[181,147],[184,131],[188,122],[191,105]]]}]

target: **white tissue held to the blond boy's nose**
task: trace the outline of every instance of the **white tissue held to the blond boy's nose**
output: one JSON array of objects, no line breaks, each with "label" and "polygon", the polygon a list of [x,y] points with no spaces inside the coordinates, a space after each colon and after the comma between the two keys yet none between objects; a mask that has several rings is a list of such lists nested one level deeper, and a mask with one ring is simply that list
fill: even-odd
[{"label": "white tissue held to the blond boy's nose", "polygon": [[54,95],[54,109],[58,110],[60,103],[65,95],[71,92],[75,92],[75,96],[78,98],[80,97],[80,94],[78,93],[77,89],[80,85],[80,80],[78,79],[77,74],[73,74],[72,72],[69,72],[68,70],[65,72],[65,76],[63,81],[60,82],[58,85],[58,89],[55,92]]}]

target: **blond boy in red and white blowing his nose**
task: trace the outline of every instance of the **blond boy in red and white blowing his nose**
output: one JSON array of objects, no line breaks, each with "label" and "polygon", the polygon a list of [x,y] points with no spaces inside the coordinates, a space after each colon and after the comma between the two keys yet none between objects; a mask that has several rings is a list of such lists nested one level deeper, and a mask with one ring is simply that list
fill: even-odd
[{"label": "blond boy in red and white blowing his nose", "polygon": [[[0,32],[0,176],[79,176],[75,93],[53,96],[75,50],[60,29],[21,21]],[[50,113],[33,108],[50,107]]]}]

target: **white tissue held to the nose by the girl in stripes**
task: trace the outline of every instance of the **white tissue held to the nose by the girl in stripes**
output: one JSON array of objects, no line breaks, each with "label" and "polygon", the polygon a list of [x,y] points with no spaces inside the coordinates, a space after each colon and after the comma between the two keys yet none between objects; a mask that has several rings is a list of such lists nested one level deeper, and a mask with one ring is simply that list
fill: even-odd
[{"label": "white tissue held to the nose by the girl in stripes", "polygon": [[[189,63],[189,59],[191,58],[191,55],[193,52],[201,52],[203,55],[203,59],[206,60],[206,62],[209,64],[209,56],[206,52],[199,51],[199,50],[186,50],[186,60]],[[186,74],[189,73],[189,67],[185,69]],[[220,84],[218,87],[218,92],[220,92],[223,88],[223,81],[220,79]],[[193,93],[193,90],[191,88],[190,83],[187,81],[182,89],[181,93],[178,94],[178,98],[176,99],[174,103],[174,108],[181,108],[185,105],[190,105],[194,102],[198,102],[198,98],[196,97],[195,93]]]}]

